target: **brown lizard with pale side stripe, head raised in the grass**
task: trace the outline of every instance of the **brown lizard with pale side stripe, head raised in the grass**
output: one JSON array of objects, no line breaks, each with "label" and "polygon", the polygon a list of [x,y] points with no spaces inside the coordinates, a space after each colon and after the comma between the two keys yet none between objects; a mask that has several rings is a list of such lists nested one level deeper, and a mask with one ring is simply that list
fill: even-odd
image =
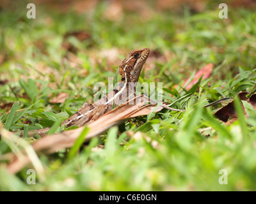
[{"label": "brown lizard with pale side stripe, head raised in the grass", "polygon": [[[138,82],[141,69],[147,60],[149,52],[150,50],[148,48],[129,52],[119,66],[119,73],[122,79],[118,87],[90,105],[84,103],[80,110],[70,116],[67,120],[64,120],[61,126],[66,126],[68,128],[70,126],[81,127],[84,124],[89,124],[90,122],[99,119],[104,113],[109,112],[113,108],[113,104],[115,106],[120,105],[121,103],[126,102],[129,96],[134,96],[134,87],[132,87],[132,89],[131,87],[129,88],[129,84],[136,84],[136,82]],[[50,128],[44,128],[29,131],[28,136],[44,136],[49,129]],[[22,135],[23,133],[20,134],[20,136]]]}]

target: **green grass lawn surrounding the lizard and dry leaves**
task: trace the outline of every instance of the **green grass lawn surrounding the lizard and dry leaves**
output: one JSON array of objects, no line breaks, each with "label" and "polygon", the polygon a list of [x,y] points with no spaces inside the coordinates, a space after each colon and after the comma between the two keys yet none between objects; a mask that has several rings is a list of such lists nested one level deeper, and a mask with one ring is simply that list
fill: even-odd
[{"label": "green grass lawn surrounding the lizard and dry leaves", "polygon": [[[72,149],[39,155],[44,171],[36,171],[36,185],[26,182],[28,168],[17,175],[6,171],[4,155],[19,152],[20,140],[2,139],[0,189],[255,190],[255,110],[244,102],[250,115],[246,118],[236,101],[239,119],[226,125],[212,115],[221,105],[202,108],[241,91],[255,91],[255,12],[229,8],[228,19],[220,19],[216,7],[195,14],[187,9],[180,13],[154,11],[147,20],[137,13],[125,13],[121,20],[111,21],[104,17],[106,6],[100,3],[92,12],[65,15],[37,7],[35,20],[18,11],[15,15],[1,12],[0,55],[4,60],[0,80],[8,80],[0,87],[4,128],[24,130],[26,145],[37,140],[26,138],[31,129],[61,131],[61,121],[84,102],[92,102],[93,85],[115,77],[125,55],[145,47],[154,54],[145,64],[140,82],[163,82],[164,101],[172,103],[183,97],[172,107],[187,111],[163,110],[131,119],[93,138],[77,154],[88,131],[84,129]],[[90,38],[82,42],[68,38],[77,47],[70,54],[61,47],[63,36],[77,30],[86,30]],[[111,54],[102,57],[104,50]],[[180,87],[210,62],[214,64],[212,75],[198,83],[199,90]],[[175,89],[175,84],[180,86]],[[68,94],[65,102],[51,103],[61,92]],[[228,172],[227,185],[219,184],[221,169]]]}]

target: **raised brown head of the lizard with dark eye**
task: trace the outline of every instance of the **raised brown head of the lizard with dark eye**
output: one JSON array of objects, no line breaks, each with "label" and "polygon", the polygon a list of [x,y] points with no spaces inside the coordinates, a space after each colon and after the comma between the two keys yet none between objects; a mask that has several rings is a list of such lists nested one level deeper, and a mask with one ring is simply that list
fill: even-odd
[{"label": "raised brown head of the lizard with dark eye", "polygon": [[148,58],[149,52],[150,50],[148,48],[129,52],[119,66],[122,81],[127,79],[127,82],[138,82],[141,69]]}]

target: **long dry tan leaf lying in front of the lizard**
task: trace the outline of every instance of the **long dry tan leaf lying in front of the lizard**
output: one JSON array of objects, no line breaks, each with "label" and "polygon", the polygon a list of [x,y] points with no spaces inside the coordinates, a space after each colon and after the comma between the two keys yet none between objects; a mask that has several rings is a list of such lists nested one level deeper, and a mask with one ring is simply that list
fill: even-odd
[{"label": "long dry tan leaf lying in front of the lizard", "polygon": [[[138,97],[140,97],[139,101]],[[143,95],[137,96],[132,100],[136,100],[134,105],[121,105],[114,110],[111,110],[110,112],[102,115],[102,117],[95,120],[94,122],[88,124],[90,131],[86,135],[85,140],[88,141],[91,138],[104,133],[112,126],[116,126],[131,117],[148,115],[152,111],[159,112],[163,109],[161,106],[156,108],[156,105],[144,105],[145,102],[148,103],[148,98],[144,98]],[[131,104],[132,100],[128,101],[127,103]],[[83,128],[84,127],[64,131],[63,133],[44,136],[36,140],[36,142],[32,143],[32,147],[36,152],[42,152],[44,154],[51,154],[52,152],[56,152],[56,150],[59,149],[70,148],[72,145],[74,145],[74,142],[76,142],[79,135],[81,135]],[[8,170],[11,173],[17,173],[29,163],[30,161],[28,157],[22,158],[22,160],[20,160],[13,154],[13,159],[10,164],[8,164]]]}]

